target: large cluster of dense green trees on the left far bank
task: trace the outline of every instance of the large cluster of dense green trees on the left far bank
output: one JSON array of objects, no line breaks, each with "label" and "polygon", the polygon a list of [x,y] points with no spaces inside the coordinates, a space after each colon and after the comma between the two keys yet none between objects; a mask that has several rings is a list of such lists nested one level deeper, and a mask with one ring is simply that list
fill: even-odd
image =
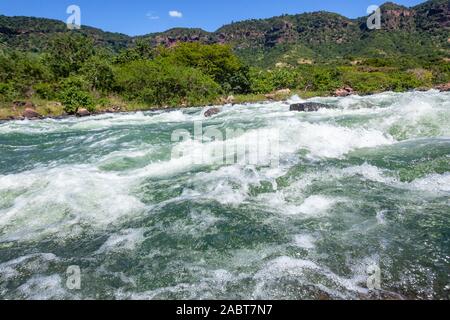
[{"label": "large cluster of dense green trees on the left far bank", "polygon": [[55,36],[41,54],[0,52],[0,103],[57,101],[75,114],[120,100],[140,109],[202,105],[249,93],[249,69],[225,45],[182,43],[152,48],[143,42],[118,54],[73,32]]}]

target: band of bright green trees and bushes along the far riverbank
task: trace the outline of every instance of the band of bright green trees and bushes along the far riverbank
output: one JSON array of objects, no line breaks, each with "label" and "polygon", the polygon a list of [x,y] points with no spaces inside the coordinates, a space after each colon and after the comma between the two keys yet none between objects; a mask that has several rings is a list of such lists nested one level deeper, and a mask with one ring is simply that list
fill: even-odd
[{"label": "band of bright green trees and bushes along the far riverbank", "polygon": [[227,95],[297,89],[329,94],[342,86],[360,93],[404,91],[448,82],[449,64],[427,65],[396,58],[354,63],[301,64],[272,69],[249,67],[231,47],[178,43],[151,47],[136,41],[113,53],[77,33],[55,36],[43,53],[0,47],[0,103],[20,99],[61,102],[64,111],[95,111],[112,98],[150,107],[215,103]]}]

